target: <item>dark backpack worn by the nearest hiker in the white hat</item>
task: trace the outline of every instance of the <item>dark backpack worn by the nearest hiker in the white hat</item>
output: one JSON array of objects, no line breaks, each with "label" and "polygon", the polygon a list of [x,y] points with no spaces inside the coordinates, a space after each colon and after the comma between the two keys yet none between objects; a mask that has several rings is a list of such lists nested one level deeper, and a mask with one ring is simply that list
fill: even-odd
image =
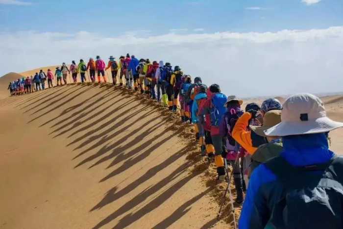
[{"label": "dark backpack worn by the nearest hiker in the white hat", "polygon": [[323,164],[294,167],[277,156],[265,166],[277,177],[276,189],[264,190],[274,203],[266,228],[343,228],[342,157],[334,156]]}]

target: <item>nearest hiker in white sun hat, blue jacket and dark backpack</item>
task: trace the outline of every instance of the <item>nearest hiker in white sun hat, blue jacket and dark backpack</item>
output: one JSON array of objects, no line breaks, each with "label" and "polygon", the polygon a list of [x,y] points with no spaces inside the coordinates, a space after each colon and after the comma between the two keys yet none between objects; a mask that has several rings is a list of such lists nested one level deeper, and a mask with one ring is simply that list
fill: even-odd
[{"label": "nearest hiker in white sun hat, blue jacket and dark backpack", "polygon": [[328,144],[328,132],[339,127],[318,97],[286,100],[281,123],[264,131],[282,138],[283,151],[252,173],[240,229],[342,229],[343,158]]}]

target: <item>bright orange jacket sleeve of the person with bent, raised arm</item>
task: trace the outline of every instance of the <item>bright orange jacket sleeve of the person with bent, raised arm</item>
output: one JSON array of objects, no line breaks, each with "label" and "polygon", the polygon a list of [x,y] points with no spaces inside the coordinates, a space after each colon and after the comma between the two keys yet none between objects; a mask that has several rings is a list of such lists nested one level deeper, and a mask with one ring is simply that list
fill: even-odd
[{"label": "bright orange jacket sleeve of the person with bent, raised arm", "polygon": [[232,130],[232,137],[249,153],[254,154],[257,148],[252,146],[251,131],[246,130],[249,125],[251,114],[244,113],[236,122]]}]

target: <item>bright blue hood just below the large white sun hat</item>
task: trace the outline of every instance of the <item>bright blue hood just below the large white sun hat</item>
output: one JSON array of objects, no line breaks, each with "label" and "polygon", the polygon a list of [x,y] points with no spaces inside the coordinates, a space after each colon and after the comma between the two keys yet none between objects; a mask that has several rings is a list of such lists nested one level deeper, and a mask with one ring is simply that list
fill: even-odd
[{"label": "bright blue hood just below the large white sun hat", "polygon": [[294,166],[325,163],[334,153],[329,150],[326,133],[282,137],[281,155]]}]

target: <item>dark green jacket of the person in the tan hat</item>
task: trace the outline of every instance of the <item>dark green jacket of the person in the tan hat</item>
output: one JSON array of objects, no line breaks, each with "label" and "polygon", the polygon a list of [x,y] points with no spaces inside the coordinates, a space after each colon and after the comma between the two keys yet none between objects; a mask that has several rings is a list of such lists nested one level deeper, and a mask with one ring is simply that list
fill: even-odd
[{"label": "dark green jacket of the person in the tan hat", "polygon": [[262,163],[267,162],[269,159],[279,156],[282,152],[282,143],[266,143],[257,148],[251,156],[251,164],[249,168],[249,178],[254,171]]}]

